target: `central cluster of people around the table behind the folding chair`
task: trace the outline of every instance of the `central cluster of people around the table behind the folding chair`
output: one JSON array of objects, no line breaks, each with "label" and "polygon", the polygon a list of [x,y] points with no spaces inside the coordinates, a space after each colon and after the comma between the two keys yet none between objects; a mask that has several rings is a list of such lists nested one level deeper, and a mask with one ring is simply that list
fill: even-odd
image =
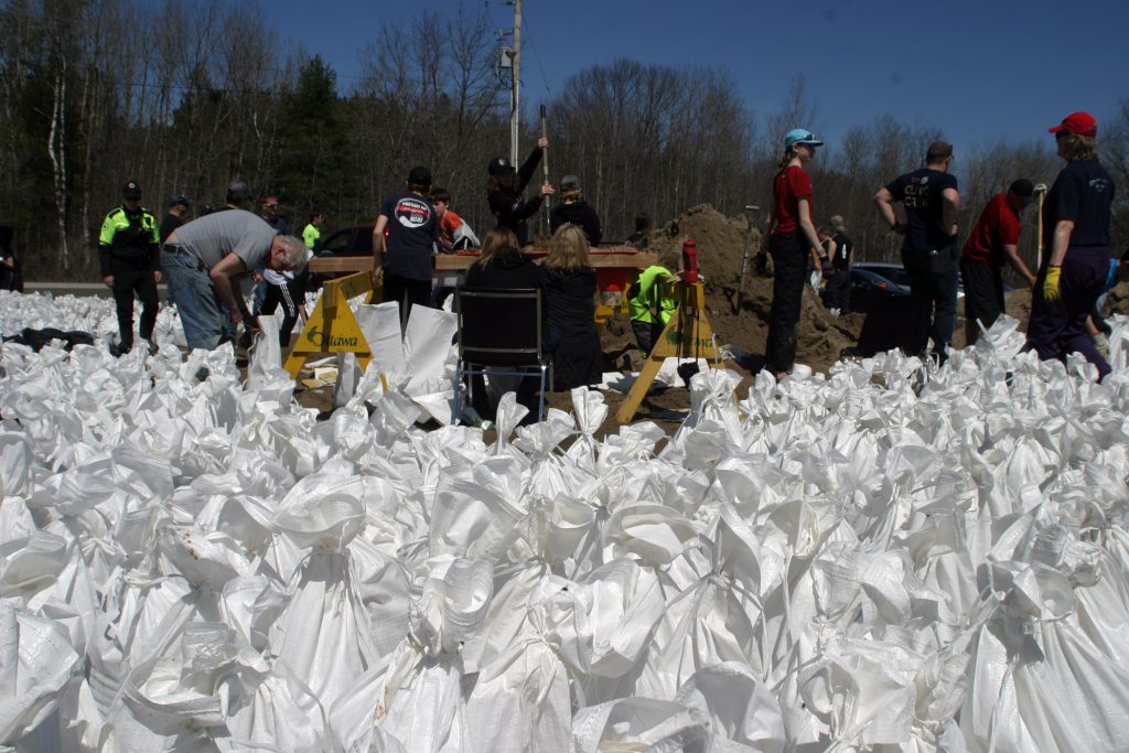
[{"label": "central cluster of people around the table behind the folding chair", "polygon": [[[505,157],[488,166],[487,195],[496,227],[483,237],[481,254],[463,280],[466,290],[537,290],[544,312],[543,341],[553,364],[553,389],[598,384],[603,353],[595,324],[596,271],[589,252],[599,244],[599,217],[584,200],[580,181],[567,175],[560,182],[560,201],[550,213],[548,255],[535,263],[523,248],[528,244],[527,220],[537,214],[545,196],[557,193],[549,183],[532,199],[524,191],[543,158],[549,141],[541,138],[528,158],[514,167]],[[450,210],[450,195],[431,189],[431,172],[413,167],[402,191],[387,196],[373,227],[373,287],[383,288],[384,300],[400,306],[406,326],[414,306],[435,306],[444,290],[432,288],[435,249],[458,249],[461,238],[474,238],[466,224]],[[474,238],[476,240],[476,238]],[[504,323],[498,323],[504,326]],[[484,391],[476,391],[478,395]],[[517,385],[518,401],[536,400],[532,379]],[[482,414],[488,405],[475,405]]]}]

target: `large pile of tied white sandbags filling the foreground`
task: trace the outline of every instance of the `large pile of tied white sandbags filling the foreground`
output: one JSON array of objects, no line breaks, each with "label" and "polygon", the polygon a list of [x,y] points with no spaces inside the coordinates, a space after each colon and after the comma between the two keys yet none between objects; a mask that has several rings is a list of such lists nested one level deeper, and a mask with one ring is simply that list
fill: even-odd
[{"label": "large pile of tied white sandbags filling the foreground", "polygon": [[0,744],[1127,750],[1129,327],[1102,385],[1014,330],[704,371],[668,440],[510,397],[491,444],[224,349],[5,345]]}]

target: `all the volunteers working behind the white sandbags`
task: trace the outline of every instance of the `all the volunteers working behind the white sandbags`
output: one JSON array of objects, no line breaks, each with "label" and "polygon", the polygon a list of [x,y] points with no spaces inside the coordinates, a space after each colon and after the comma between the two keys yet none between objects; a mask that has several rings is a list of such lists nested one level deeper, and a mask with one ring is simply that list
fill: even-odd
[{"label": "all the volunteers working behind the white sandbags", "polygon": [[[1111,284],[1110,219],[1113,181],[1097,161],[1097,122],[1085,112],[1068,115],[1050,129],[1058,155],[1067,165],[1047,191],[1043,202],[1043,243],[1048,253],[1034,272],[1018,253],[1021,214],[1034,201],[1036,186],[1017,178],[988,202],[969,234],[957,245],[961,195],[952,145],[935,141],[924,167],[878,189],[874,202],[890,230],[904,236],[901,259],[910,292],[928,310],[933,354],[944,360],[956,319],[957,274],[965,292],[969,341],[992,325],[1004,312],[1003,268],[1010,265],[1033,288],[1027,324],[1030,350],[1040,358],[1079,352],[1101,377],[1110,371],[1102,351],[1099,296]],[[560,182],[560,200],[551,212],[552,237],[543,264],[523,253],[528,243],[526,222],[546,196],[558,191],[543,183],[532,199],[524,192],[549,142],[537,141],[528,158],[515,167],[505,157],[488,166],[487,198],[497,222],[481,242],[481,256],[466,273],[467,289],[536,289],[545,312],[544,340],[552,351],[554,388],[592,385],[602,377],[602,352],[594,323],[596,274],[589,249],[601,243],[599,218],[584,200],[575,175]],[[805,169],[823,141],[811,131],[794,129],[784,139],[779,172],[772,182],[768,214],[768,252],[773,262],[772,304],[764,348],[765,368],[784,379],[791,371],[797,347],[800,303],[809,266],[823,270],[824,304],[832,314],[849,308],[854,244],[841,216],[817,228],[814,191]],[[1041,186],[1040,186],[1041,187]],[[238,280],[256,275],[255,314],[283,309],[282,344],[301,313],[305,290],[301,272],[317,243],[324,216],[313,212],[303,237],[288,234],[278,216],[278,196],[264,198],[259,214],[250,211],[245,183],[229,186],[228,203],[190,222],[183,214],[191,200],[174,195],[158,226],[141,207],[141,189],[130,181],[123,202],[106,217],[100,234],[105,283],[116,301],[117,351],[133,345],[133,299],[142,304],[140,335],[151,347],[157,315],[156,283],[161,275],[175,300],[189,348],[215,348],[233,339],[240,322],[255,329]],[[901,204],[904,219],[900,219]],[[637,219],[634,237],[642,237],[649,217]],[[449,288],[432,290],[432,256],[479,247],[470,226],[452,210],[452,196],[434,189],[431,173],[413,167],[404,189],[386,198],[373,228],[373,284],[384,299],[400,306],[403,326],[413,306],[439,306]],[[647,353],[676,308],[679,257],[659,252],[658,263],[645,270],[632,287],[629,310],[633,333]],[[922,350],[925,344],[922,343]],[[530,382],[528,379],[526,382]],[[523,392],[524,391],[524,392]],[[527,388],[519,397],[532,400]],[[527,402],[523,400],[523,402]]]}]

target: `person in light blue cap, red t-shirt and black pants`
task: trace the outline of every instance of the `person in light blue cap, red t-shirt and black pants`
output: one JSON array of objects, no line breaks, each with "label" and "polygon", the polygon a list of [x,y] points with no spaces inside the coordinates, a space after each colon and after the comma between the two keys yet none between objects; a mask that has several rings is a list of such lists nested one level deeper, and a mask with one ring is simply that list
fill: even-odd
[{"label": "person in light blue cap, red t-shirt and black pants", "polygon": [[823,142],[811,131],[793,129],[785,134],[780,172],[772,180],[772,209],[768,213],[769,253],[772,254],[772,308],[769,310],[769,335],[764,345],[764,368],[780,382],[796,361],[796,327],[807,260],[820,263],[820,239],[812,219],[812,178],[804,165],[815,156]]}]

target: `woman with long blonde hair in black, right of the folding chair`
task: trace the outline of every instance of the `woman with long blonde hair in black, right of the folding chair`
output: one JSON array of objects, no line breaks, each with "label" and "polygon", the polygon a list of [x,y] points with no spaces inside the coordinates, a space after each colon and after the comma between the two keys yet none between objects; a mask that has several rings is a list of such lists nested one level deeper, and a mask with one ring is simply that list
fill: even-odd
[{"label": "woman with long blonde hair in black, right of the folding chair", "polygon": [[549,329],[553,350],[553,389],[599,384],[604,354],[596,331],[596,270],[588,263],[588,239],[577,225],[564,225],[549,242],[545,259]]}]

